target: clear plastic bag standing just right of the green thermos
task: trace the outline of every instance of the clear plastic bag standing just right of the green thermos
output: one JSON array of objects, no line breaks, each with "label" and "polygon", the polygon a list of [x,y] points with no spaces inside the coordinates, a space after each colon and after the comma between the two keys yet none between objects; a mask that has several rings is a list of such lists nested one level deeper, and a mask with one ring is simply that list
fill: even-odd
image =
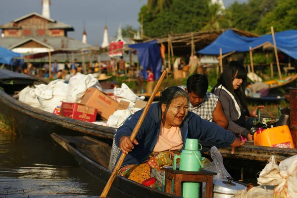
[{"label": "clear plastic bag standing just right of the green thermos", "polygon": [[231,177],[231,175],[227,172],[224,166],[223,156],[218,150],[218,148],[214,146],[210,148],[210,156],[213,161],[204,164],[204,170],[216,172],[217,175],[215,175],[213,179],[227,180],[227,177]]}]

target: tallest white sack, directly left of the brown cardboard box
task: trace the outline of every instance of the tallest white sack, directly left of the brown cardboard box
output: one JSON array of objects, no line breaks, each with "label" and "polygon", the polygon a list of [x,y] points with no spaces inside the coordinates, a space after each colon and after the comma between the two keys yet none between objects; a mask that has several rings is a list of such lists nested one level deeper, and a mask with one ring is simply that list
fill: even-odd
[{"label": "tallest white sack, directly left of the brown cardboard box", "polygon": [[96,87],[102,91],[100,83],[92,74],[77,74],[70,78],[68,84],[66,92],[67,102],[80,102],[90,87]]}]

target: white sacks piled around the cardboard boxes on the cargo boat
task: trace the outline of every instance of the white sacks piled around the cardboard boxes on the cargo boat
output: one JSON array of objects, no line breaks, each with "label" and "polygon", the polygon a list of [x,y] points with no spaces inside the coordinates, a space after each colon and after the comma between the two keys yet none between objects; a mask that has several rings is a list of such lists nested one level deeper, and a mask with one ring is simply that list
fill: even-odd
[{"label": "white sacks piled around the cardboard boxes on the cargo boat", "polygon": [[[98,80],[92,74],[77,74],[70,78],[68,84],[63,80],[54,80],[48,85],[35,85],[35,88],[26,87],[19,93],[19,100],[52,113],[56,106],[61,105],[61,101],[80,102],[90,87],[102,91]],[[112,98],[118,102],[121,100],[130,102],[129,107],[125,110],[116,110],[107,122],[97,121],[93,122],[94,124],[118,128],[130,115],[140,110],[140,108],[134,107],[135,101],[145,99],[145,97],[136,96],[124,83],[121,88],[114,89],[113,94]]]}]

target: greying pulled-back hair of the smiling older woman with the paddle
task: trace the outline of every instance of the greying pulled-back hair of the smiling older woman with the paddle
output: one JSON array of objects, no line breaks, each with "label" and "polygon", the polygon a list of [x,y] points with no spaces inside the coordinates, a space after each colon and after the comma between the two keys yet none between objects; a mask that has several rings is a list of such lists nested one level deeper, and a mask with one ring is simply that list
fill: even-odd
[{"label": "greying pulled-back hair of the smiling older woman with the paddle", "polygon": [[159,104],[166,104],[169,105],[173,99],[178,97],[184,97],[188,99],[189,102],[189,95],[188,93],[180,87],[168,87],[160,94]]}]

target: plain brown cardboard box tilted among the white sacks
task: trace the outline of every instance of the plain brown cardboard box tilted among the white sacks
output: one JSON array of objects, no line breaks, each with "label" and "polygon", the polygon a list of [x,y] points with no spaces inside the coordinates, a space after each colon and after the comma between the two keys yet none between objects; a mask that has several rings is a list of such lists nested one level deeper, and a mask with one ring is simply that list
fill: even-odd
[{"label": "plain brown cardboard box tilted among the white sacks", "polygon": [[[98,109],[97,113],[105,120],[108,120],[109,116],[112,115],[119,106],[117,101],[97,88],[89,88],[80,103]],[[123,109],[123,103],[121,103],[121,106],[121,109]],[[127,107],[124,109],[127,109]]]}]

